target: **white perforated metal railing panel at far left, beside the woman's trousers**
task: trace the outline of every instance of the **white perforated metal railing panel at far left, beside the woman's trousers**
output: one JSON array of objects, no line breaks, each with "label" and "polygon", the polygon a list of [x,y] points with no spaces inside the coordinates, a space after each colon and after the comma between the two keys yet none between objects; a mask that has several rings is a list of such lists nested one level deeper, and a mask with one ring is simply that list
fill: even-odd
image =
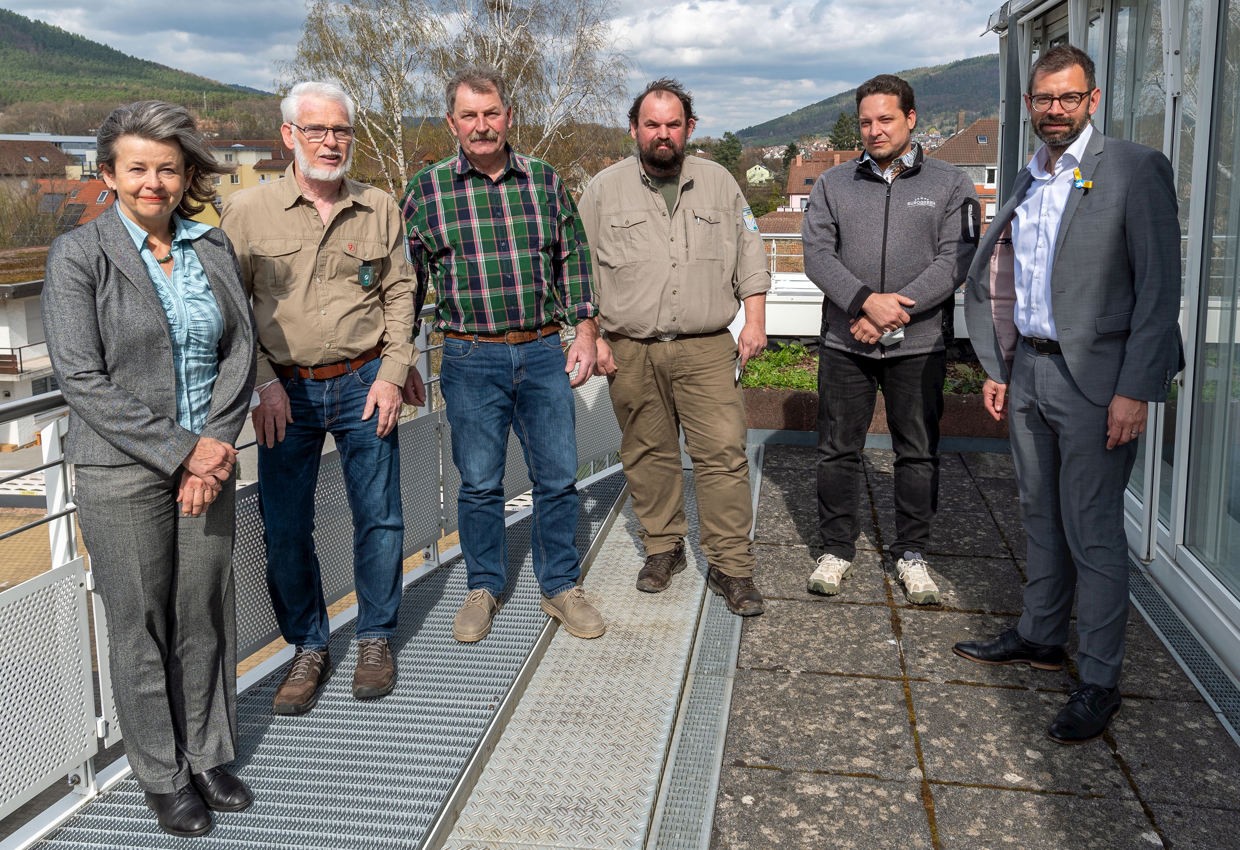
[{"label": "white perforated metal railing panel at far left, beside the woman's trousers", "polygon": [[98,752],[86,561],[0,592],[0,818]]}]

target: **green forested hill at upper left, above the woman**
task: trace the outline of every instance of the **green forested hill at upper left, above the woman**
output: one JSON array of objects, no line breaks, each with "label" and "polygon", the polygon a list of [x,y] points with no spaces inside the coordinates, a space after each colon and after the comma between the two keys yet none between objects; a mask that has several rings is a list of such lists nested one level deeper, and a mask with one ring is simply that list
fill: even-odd
[{"label": "green forested hill at upper left, above the woman", "polygon": [[228,102],[254,97],[0,9],[0,109],[20,102],[148,98],[188,105],[203,94]]}]

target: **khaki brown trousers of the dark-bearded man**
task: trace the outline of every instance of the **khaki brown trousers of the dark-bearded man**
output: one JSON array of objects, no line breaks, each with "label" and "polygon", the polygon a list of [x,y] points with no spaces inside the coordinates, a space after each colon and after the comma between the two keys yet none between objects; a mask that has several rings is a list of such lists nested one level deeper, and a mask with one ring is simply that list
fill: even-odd
[{"label": "khaki brown trousers of the dark-bearded man", "polygon": [[684,450],[693,460],[702,551],[724,575],[753,575],[745,403],[732,333],[723,330],[671,342],[613,333],[609,342],[616,362],[611,405],[624,434],[620,460],[646,555],[675,549],[688,534],[683,427]]}]

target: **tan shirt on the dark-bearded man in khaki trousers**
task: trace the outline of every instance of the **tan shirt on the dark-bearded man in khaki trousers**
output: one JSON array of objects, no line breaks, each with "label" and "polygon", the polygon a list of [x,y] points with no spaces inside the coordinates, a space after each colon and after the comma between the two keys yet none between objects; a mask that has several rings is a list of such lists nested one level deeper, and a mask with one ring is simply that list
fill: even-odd
[{"label": "tan shirt on the dark-bearded man in khaki trousers", "polygon": [[743,299],[770,289],[758,224],[717,162],[684,157],[673,211],[636,156],[595,175],[578,206],[609,332],[709,333],[728,327]]}]

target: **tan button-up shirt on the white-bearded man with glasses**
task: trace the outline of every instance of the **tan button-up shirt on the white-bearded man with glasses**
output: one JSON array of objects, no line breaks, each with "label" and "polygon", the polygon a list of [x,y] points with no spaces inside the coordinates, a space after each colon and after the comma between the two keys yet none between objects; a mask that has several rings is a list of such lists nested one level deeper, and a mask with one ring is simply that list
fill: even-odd
[{"label": "tan button-up shirt on the white-bearded man with glasses", "polygon": [[[417,281],[389,195],[346,178],[324,226],[290,165],[284,180],[228,196],[219,227],[237,252],[258,322],[258,384],[275,378],[273,363],[326,366],[379,342],[378,377],[404,384],[418,356]],[[357,274],[365,260],[374,266],[367,287]]]}]

